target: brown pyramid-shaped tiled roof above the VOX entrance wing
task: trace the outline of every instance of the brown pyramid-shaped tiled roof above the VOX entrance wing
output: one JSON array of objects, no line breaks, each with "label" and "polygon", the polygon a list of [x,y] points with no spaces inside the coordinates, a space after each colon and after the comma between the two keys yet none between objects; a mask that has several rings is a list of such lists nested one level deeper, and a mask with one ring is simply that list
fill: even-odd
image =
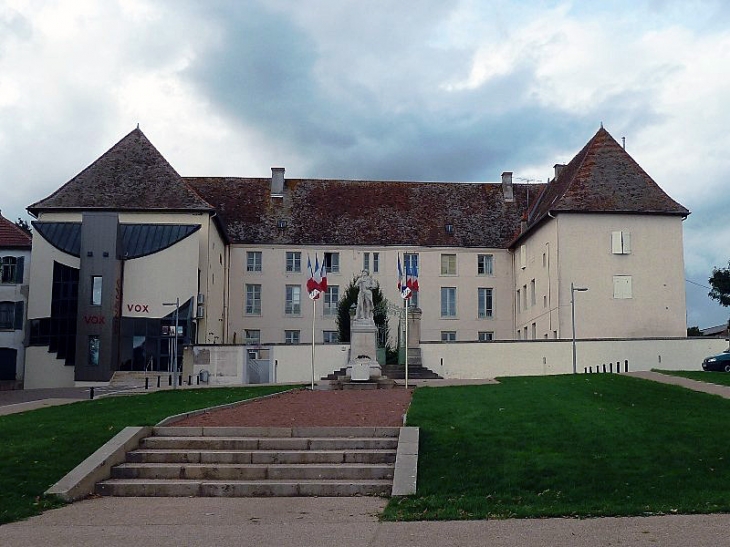
[{"label": "brown pyramid-shaped tiled roof above the VOX entrance wing", "polygon": [[137,128],[28,210],[210,210]]}]

